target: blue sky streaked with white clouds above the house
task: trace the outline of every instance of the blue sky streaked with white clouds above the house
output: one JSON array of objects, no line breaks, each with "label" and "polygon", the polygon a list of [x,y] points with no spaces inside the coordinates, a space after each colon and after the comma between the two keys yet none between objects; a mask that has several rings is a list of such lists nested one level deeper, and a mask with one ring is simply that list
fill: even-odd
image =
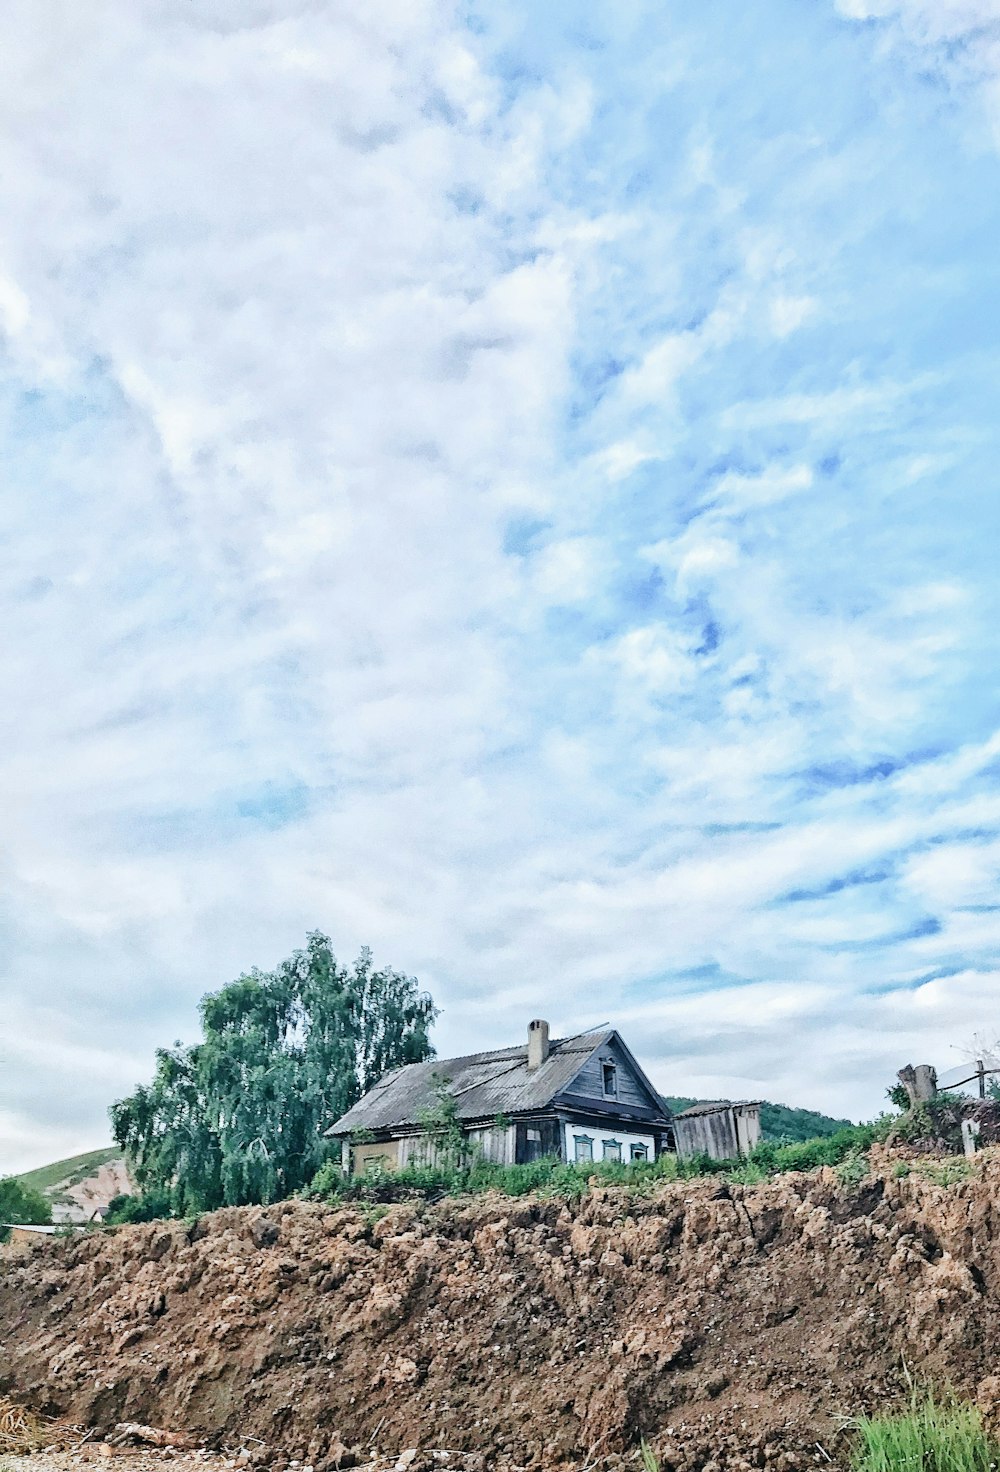
[{"label": "blue sky streaked with white clouds above the house", "polygon": [[996,1039],[999,0],[0,32],[0,1170],[311,929],[669,1094]]}]

